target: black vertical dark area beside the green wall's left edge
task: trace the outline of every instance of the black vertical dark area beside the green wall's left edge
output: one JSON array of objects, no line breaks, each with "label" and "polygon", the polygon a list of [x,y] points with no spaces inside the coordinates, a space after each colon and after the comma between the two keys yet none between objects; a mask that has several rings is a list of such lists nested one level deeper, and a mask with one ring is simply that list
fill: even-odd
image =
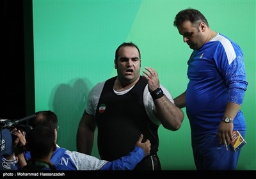
[{"label": "black vertical dark area beside the green wall's left edge", "polygon": [[0,118],[16,120],[35,113],[32,1],[1,1]]}]

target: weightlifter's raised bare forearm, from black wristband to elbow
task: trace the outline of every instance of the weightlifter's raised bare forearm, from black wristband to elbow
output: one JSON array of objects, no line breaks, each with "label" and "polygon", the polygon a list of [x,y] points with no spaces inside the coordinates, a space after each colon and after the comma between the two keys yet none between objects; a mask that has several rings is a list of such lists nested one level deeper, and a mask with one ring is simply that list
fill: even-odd
[{"label": "weightlifter's raised bare forearm, from black wristband to elbow", "polygon": [[157,117],[163,127],[169,130],[178,130],[184,119],[184,113],[179,107],[172,104],[166,95],[154,100],[154,104],[156,105]]}]

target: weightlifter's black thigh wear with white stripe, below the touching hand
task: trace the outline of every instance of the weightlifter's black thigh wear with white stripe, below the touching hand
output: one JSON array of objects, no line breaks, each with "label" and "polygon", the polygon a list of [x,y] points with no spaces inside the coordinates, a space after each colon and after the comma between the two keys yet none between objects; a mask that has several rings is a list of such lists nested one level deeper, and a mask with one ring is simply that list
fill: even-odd
[{"label": "weightlifter's black thigh wear with white stripe, below the touching hand", "polygon": [[134,170],[161,170],[160,160],[157,155],[147,155]]}]

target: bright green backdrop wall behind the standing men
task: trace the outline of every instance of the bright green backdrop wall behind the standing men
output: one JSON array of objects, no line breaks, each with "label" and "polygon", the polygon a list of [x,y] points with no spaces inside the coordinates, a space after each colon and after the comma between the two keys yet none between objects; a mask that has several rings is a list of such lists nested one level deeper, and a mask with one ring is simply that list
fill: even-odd
[{"label": "bright green backdrop wall behind the standing men", "polygon": [[[173,19],[184,8],[196,8],[214,31],[243,49],[249,82],[242,107],[247,144],[237,169],[255,170],[255,6],[255,1],[33,0],[36,111],[54,111],[60,125],[58,144],[76,150],[88,91],[116,75],[115,49],[130,41],[140,47],[141,69],[155,68],[161,84],[177,97],[186,89],[191,49]],[[195,169],[187,117],[176,132],[161,126],[159,139],[163,169]],[[92,155],[99,157],[97,141]]]}]

